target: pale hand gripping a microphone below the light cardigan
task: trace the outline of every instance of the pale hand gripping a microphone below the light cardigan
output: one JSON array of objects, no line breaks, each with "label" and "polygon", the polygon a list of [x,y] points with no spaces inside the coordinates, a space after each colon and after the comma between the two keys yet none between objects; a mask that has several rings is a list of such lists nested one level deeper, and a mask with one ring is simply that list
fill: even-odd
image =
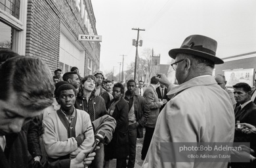
[{"label": "pale hand gripping a microphone below the light cardigan", "polygon": [[82,150],[74,159],[71,159],[70,168],[84,168],[87,165],[90,165],[93,159],[95,159],[95,152],[89,154],[87,158],[85,158],[85,156],[91,151],[91,149],[92,148],[89,148],[88,150]]}]

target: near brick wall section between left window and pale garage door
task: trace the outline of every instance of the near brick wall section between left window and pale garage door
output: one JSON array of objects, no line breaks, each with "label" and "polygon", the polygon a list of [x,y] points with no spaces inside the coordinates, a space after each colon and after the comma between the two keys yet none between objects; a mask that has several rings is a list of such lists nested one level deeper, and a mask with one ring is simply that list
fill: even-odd
[{"label": "near brick wall section between left window and pale garage door", "polygon": [[58,67],[60,18],[46,1],[28,1],[26,55],[41,58],[52,71]]}]

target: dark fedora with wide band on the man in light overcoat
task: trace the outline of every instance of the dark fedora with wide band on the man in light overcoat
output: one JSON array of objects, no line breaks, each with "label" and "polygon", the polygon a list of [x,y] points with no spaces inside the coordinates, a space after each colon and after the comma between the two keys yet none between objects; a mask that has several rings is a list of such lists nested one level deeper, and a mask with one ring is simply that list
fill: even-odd
[{"label": "dark fedora with wide band on the man in light overcoat", "polygon": [[211,60],[214,64],[223,64],[223,60],[216,56],[217,41],[203,35],[190,35],[183,41],[181,48],[171,49],[169,56],[175,59],[178,53],[192,54]]}]

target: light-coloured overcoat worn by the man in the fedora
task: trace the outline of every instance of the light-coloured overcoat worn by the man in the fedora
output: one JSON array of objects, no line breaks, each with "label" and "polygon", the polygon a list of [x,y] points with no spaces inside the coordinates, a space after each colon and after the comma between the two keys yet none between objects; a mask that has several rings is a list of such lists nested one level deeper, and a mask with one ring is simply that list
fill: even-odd
[{"label": "light-coloured overcoat worn by the man in the fedora", "polygon": [[210,75],[195,77],[174,87],[158,117],[143,167],[227,167],[227,162],[163,162],[163,155],[178,156],[179,151],[163,153],[161,142],[233,142],[234,110],[228,93]]}]

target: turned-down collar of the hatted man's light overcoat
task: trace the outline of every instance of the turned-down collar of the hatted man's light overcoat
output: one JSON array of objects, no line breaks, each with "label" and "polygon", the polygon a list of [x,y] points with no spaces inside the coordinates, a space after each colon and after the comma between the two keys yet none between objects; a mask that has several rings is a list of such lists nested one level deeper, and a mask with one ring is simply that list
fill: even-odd
[{"label": "turned-down collar of the hatted man's light overcoat", "polygon": [[217,84],[217,82],[215,81],[213,76],[196,77],[196,78],[190,79],[189,81],[186,81],[185,83],[182,83],[181,85],[178,85],[177,87],[173,87],[171,91],[167,93],[167,95],[180,93],[181,91],[184,91],[185,89],[188,89],[190,87],[196,87],[196,86],[202,86],[202,85],[215,85],[215,84]]}]

